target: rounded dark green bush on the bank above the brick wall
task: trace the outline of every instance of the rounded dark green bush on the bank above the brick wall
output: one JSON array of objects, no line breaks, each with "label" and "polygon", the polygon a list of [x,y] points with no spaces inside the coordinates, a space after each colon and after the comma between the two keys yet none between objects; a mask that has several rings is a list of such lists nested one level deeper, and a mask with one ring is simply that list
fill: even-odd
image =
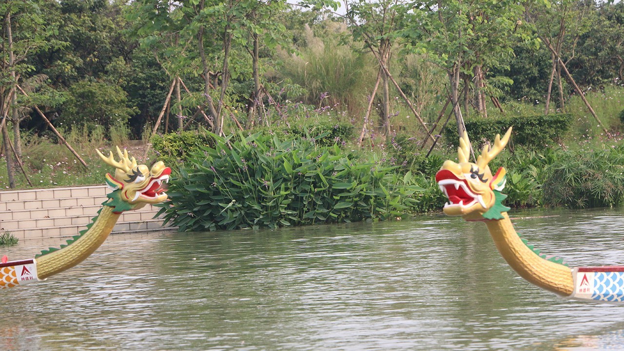
[{"label": "rounded dark green bush on the bank above the brick wall", "polygon": [[59,123],[64,126],[88,124],[110,127],[125,124],[134,109],[127,107],[127,94],[119,86],[104,82],[80,81],[69,88]]}]

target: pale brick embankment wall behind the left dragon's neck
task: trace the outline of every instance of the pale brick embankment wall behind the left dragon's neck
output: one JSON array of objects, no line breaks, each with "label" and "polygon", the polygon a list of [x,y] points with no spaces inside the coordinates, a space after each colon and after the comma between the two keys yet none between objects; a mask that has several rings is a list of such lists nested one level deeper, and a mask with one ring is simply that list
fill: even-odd
[{"label": "pale brick embankment wall behind the left dragon's neck", "polygon": [[[20,240],[77,235],[97,215],[107,191],[105,185],[0,191],[0,234]],[[154,219],[157,212],[152,205],[124,212],[112,234],[166,229]]]}]

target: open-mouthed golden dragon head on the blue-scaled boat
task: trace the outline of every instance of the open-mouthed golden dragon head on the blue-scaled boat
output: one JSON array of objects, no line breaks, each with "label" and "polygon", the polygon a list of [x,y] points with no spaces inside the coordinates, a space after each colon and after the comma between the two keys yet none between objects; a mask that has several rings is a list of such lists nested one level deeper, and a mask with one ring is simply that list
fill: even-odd
[{"label": "open-mouthed golden dragon head on the blue-scaled boat", "polygon": [[449,199],[444,205],[445,214],[462,216],[466,220],[502,219],[501,212],[509,210],[501,203],[507,195],[500,193],[505,187],[506,171],[500,167],[492,175],[487,165],[505,148],[510,135],[511,127],[502,139],[496,136],[493,147],[486,144],[477,163],[472,163],[469,161],[470,141],[464,132],[457,149],[459,162],[447,160],[436,173],[436,182]]}]

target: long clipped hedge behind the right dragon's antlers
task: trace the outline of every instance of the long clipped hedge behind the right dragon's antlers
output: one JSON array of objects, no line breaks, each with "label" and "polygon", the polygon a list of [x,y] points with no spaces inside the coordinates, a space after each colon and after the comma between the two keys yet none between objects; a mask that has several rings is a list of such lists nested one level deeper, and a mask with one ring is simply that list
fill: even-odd
[{"label": "long clipped hedge behind the right dragon's antlers", "polygon": [[[560,142],[572,125],[570,114],[548,114],[546,116],[510,116],[497,119],[474,118],[464,121],[472,142],[494,141],[496,134],[512,131],[511,144],[542,149]],[[456,124],[448,124],[442,131],[447,142],[456,147],[459,143]]]}]

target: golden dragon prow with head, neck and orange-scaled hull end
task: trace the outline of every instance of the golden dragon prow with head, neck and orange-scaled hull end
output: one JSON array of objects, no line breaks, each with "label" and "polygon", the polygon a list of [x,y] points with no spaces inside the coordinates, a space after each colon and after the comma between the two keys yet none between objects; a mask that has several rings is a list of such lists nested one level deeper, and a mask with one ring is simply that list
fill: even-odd
[{"label": "golden dragon prow with head, neck and orange-scaled hull end", "polygon": [[[97,150],[96,150],[97,151]],[[7,261],[0,263],[0,289],[16,287],[46,280],[52,275],[70,269],[89,257],[109,236],[119,216],[127,210],[135,210],[146,204],[159,204],[167,200],[161,185],[168,182],[171,169],[162,161],[147,167],[137,164],[128,152],[117,147],[119,161],[112,152],[104,156],[97,151],[100,159],[115,167],[115,173],[106,175],[106,183],[112,190],[102,203],[87,229],[80,231],[59,248],[43,250],[34,259]]]}]

